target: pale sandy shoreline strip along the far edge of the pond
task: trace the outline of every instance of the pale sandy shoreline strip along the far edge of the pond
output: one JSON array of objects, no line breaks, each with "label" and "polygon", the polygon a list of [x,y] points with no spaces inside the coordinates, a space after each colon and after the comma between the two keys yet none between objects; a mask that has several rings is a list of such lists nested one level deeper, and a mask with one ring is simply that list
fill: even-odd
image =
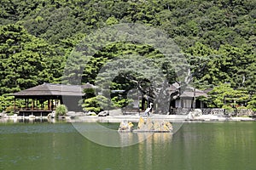
[{"label": "pale sandy shoreline strip along the far edge of the pond", "polygon": [[[141,116],[137,115],[114,115],[114,116],[61,116],[49,118],[48,116],[3,116],[0,122],[113,122],[122,121],[138,122]],[[147,116],[143,116],[147,118]],[[249,116],[189,116],[189,115],[156,115],[149,116],[152,121],[163,122],[255,122],[256,119]]]}]

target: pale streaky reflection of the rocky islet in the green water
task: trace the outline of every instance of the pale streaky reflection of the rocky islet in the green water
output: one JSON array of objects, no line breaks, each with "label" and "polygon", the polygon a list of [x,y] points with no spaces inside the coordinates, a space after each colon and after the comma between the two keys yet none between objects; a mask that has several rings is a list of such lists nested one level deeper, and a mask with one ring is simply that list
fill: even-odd
[{"label": "pale streaky reflection of the rocky islet in the green water", "polygon": [[[121,138],[126,140],[137,138],[141,141],[129,147],[120,149],[121,164],[118,169],[154,170],[156,165],[163,162],[163,155],[169,153],[172,146],[171,133],[121,133]],[[168,159],[168,156],[165,156]]]}]

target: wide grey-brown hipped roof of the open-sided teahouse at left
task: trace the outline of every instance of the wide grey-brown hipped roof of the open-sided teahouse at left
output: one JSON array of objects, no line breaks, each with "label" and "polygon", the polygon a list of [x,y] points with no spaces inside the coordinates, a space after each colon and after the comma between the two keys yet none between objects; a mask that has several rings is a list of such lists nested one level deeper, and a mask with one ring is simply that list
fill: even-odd
[{"label": "wide grey-brown hipped roof of the open-sided teahouse at left", "polygon": [[87,83],[85,85],[63,85],[45,83],[33,88],[28,88],[13,94],[14,96],[83,96],[84,88],[94,88]]}]

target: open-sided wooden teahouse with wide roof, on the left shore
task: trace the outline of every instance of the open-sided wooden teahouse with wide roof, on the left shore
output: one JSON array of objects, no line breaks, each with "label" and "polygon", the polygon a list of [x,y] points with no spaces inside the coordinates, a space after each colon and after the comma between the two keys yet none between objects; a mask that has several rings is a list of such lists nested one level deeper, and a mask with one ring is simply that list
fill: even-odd
[{"label": "open-sided wooden teahouse with wide roof, on the left shore", "polygon": [[47,116],[55,111],[57,105],[67,105],[68,111],[81,111],[79,100],[84,99],[84,88],[94,88],[87,83],[85,85],[62,85],[45,83],[33,88],[28,88],[13,94],[16,99],[24,99],[25,107],[18,108],[15,112],[20,116]]}]

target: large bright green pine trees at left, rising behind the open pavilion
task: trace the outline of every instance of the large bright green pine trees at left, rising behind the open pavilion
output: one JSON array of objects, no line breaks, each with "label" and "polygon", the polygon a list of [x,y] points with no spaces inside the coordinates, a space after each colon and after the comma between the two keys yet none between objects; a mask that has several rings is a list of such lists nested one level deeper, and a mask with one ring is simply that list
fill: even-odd
[{"label": "large bright green pine trees at left, rising behind the open pavilion", "polygon": [[63,58],[47,42],[28,34],[23,26],[0,27],[0,94],[58,82]]}]

